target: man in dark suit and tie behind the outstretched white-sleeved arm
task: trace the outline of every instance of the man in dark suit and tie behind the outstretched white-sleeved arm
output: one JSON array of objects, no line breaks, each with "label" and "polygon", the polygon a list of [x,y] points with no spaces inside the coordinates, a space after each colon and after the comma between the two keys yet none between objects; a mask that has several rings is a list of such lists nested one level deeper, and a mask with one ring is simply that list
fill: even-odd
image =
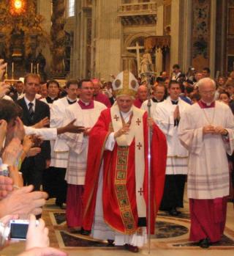
[{"label": "man in dark suit and tie behind the outstretched white-sleeved arm", "polygon": [[[50,108],[48,104],[37,100],[36,87],[39,84],[39,76],[29,74],[24,80],[25,96],[18,100],[18,105],[23,109],[22,121],[24,125],[31,126],[45,117],[50,118]],[[21,166],[23,173],[23,183],[34,185],[34,190],[39,190],[42,184],[42,172],[50,166],[50,142],[43,142],[41,153],[37,156],[26,158]]]}]

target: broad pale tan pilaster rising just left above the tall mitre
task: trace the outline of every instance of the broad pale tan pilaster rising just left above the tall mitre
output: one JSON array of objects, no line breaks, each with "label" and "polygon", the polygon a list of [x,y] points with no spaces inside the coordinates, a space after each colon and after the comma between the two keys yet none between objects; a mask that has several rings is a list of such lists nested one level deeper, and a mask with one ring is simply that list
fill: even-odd
[{"label": "broad pale tan pilaster rising just left above the tall mitre", "polygon": [[116,75],[121,71],[121,21],[117,17],[119,2],[99,0],[95,10],[95,32],[92,34],[95,56],[92,56],[91,65],[95,65],[94,76],[105,80],[110,79],[110,74]]}]

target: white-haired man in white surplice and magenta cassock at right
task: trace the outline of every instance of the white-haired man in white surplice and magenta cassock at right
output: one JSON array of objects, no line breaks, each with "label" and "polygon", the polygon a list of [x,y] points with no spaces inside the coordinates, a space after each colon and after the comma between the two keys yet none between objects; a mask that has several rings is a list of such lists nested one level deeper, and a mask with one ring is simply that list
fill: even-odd
[{"label": "white-haired man in white surplice and magenta cassock at right", "polygon": [[229,194],[226,153],[233,153],[234,119],[229,106],[214,100],[214,80],[203,78],[197,85],[201,99],[184,112],[178,135],[189,150],[189,239],[208,248],[224,232]]}]

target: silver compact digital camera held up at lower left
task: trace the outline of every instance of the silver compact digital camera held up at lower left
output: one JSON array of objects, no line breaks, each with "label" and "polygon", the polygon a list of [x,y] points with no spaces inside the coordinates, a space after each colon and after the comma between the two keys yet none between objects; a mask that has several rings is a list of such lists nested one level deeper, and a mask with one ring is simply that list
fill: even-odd
[{"label": "silver compact digital camera held up at lower left", "polygon": [[[36,221],[36,226],[39,224]],[[12,219],[10,221],[10,239],[26,240],[26,235],[29,228],[29,220],[27,219]]]}]

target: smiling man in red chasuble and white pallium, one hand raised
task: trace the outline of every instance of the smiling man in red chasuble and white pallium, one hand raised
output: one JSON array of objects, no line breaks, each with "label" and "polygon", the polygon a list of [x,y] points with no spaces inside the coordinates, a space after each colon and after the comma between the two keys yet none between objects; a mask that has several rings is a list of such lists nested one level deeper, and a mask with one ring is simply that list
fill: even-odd
[{"label": "smiling man in red chasuble and white pallium, one hand raised", "polygon": [[[126,78],[126,73],[123,76]],[[128,79],[123,82],[123,87],[131,87],[132,84]],[[102,208],[105,223],[124,235],[132,235],[139,227],[146,227],[150,125],[151,233],[154,233],[156,213],[164,189],[167,142],[162,131],[148,119],[147,112],[132,106],[133,99],[129,92],[120,93],[117,93],[117,104],[102,111],[89,136],[83,228],[92,229],[100,169],[103,172]],[[106,143],[111,136],[113,149],[107,150]]]}]

